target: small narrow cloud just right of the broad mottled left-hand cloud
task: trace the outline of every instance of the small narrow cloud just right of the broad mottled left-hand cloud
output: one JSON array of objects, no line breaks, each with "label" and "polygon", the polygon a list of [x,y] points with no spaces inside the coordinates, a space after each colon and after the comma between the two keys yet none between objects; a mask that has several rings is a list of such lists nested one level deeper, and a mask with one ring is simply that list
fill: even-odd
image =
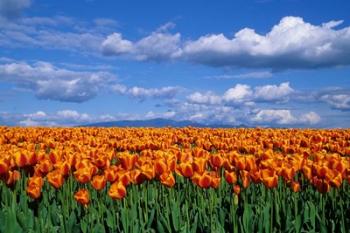
[{"label": "small narrow cloud just right of the broad mottled left-hand cloud", "polygon": [[112,86],[112,90],[121,95],[127,95],[133,98],[144,100],[146,98],[173,98],[180,90],[179,87],[161,87],[161,88],[143,88],[143,87],[127,87],[121,84]]}]

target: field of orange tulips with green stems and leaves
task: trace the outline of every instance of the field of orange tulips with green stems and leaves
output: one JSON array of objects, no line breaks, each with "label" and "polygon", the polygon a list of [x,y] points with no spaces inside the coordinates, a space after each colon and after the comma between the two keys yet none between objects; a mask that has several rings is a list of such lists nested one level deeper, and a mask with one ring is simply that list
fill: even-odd
[{"label": "field of orange tulips with green stems and leaves", "polygon": [[0,127],[0,232],[350,232],[349,129]]}]

